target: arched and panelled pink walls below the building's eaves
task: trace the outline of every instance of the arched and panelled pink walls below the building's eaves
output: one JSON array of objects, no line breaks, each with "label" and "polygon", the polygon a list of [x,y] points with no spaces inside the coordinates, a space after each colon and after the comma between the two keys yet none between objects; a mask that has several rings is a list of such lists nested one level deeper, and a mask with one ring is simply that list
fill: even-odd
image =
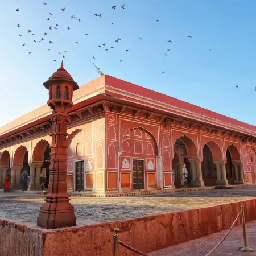
[{"label": "arched and panelled pink walls below the building's eaves", "polygon": [[[137,122],[124,122],[124,119],[122,122],[120,135],[117,125],[110,122],[106,122],[104,131],[104,118],[98,118],[94,127],[92,122],[87,122],[75,130],[69,129],[69,191],[113,193],[255,183],[253,147],[244,147],[246,157],[242,158],[241,145],[235,141],[226,143],[226,147],[220,146],[225,144],[224,138],[224,143],[209,140],[200,145],[197,136],[190,138],[189,133],[178,136],[182,131],[172,133],[171,127],[137,126]],[[27,170],[28,190],[41,189],[44,177],[49,174],[48,136],[17,144],[13,151],[7,148],[1,152],[1,188],[4,177],[11,174],[12,188],[21,189],[21,174]]]}]

